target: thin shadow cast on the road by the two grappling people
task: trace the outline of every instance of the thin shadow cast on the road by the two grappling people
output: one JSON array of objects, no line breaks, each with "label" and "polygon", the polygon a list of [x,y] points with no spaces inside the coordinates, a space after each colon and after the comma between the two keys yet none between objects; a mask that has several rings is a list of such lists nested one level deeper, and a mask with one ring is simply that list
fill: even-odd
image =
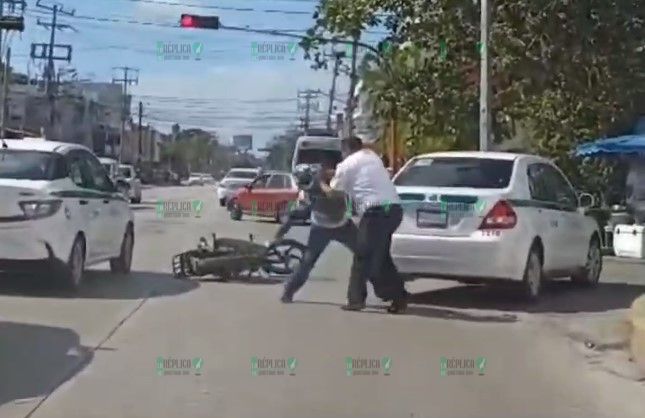
[{"label": "thin shadow cast on the road by the two grappling people", "polygon": [[[307,305],[330,305],[330,306],[343,306],[340,303],[332,302],[313,302],[313,301],[295,301],[294,303],[301,303]],[[386,311],[387,306],[383,305],[367,305],[367,310],[360,312],[347,312],[348,314],[380,314],[380,315],[392,315]],[[415,315],[422,316],[425,318],[439,318],[439,319],[455,319],[458,321],[470,321],[470,322],[498,322],[498,323],[510,323],[517,322],[517,317],[515,315],[502,314],[502,315],[473,315],[467,312],[453,311],[450,309],[438,309],[430,308],[425,306],[409,306],[405,313],[400,314],[399,316]]]}]

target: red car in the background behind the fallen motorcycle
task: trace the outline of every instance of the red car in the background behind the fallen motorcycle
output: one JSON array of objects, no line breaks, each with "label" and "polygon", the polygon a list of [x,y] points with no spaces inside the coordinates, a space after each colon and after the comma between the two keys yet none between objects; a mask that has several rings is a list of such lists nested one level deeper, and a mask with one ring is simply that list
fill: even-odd
[{"label": "red car in the background behind the fallen motorcycle", "polygon": [[287,172],[267,172],[239,189],[229,200],[231,219],[242,215],[262,216],[282,222],[289,208],[297,204],[298,187]]}]

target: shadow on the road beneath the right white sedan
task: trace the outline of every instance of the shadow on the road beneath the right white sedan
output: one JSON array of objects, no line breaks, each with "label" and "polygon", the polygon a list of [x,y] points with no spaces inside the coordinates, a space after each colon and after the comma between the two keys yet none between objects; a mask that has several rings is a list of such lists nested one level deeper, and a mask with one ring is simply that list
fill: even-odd
[{"label": "shadow on the road beneath the right white sedan", "polygon": [[594,289],[568,281],[545,284],[536,303],[521,300],[517,288],[506,286],[458,286],[412,295],[410,303],[460,309],[490,309],[530,313],[603,312],[626,309],[645,286],[626,283],[600,283]]}]

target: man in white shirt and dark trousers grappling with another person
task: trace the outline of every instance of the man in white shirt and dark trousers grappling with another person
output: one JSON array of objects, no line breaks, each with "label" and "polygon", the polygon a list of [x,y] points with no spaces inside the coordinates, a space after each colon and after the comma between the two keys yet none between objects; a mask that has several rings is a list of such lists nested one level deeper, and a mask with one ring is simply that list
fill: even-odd
[{"label": "man in white shirt and dark trousers grappling with another person", "polygon": [[388,311],[399,313],[407,307],[408,296],[390,254],[392,234],[403,219],[399,195],[381,158],[363,147],[360,138],[343,140],[343,148],[347,157],[336,167],[330,189],[347,193],[361,218],[348,303],[343,309],[365,307],[370,281],[379,298],[392,302]]}]

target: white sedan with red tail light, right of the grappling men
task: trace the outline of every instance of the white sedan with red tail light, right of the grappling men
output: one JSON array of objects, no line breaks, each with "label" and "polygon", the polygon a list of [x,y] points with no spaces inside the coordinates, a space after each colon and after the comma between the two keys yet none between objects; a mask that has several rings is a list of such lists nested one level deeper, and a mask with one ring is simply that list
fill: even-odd
[{"label": "white sedan with red tail light, right of the grappling men", "polygon": [[425,154],[394,183],[404,215],[391,251],[401,273],[465,283],[515,280],[529,299],[538,298],[548,278],[598,283],[601,235],[585,215],[593,197],[576,194],[545,158]]}]

